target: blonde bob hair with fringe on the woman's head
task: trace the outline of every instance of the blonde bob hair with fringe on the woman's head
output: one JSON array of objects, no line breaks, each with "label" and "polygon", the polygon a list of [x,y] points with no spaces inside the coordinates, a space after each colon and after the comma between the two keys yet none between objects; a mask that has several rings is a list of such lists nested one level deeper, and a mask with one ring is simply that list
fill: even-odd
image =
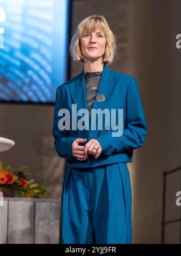
[{"label": "blonde bob hair with fringe on the woman's head", "polygon": [[84,56],[81,53],[80,39],[84,33],[100,30],[104,33],[106,38],[106,48],[103,55],[103,62],[107,65],[111,64],[115,60],[116,56],[116,38],[113,32],[110,30],[106,19],[103,15],[92,15],[83,21],[81,21],[75,34],[72,36],[71,44],[69,47],[71,57],[74,61],[84,62]]}]

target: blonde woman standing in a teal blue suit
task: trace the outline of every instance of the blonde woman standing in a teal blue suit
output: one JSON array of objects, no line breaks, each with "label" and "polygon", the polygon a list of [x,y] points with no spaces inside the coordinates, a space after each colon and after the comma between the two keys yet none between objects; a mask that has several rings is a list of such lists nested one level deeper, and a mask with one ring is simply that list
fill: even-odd
[{"label": "blonde woman standing in a teal blue suit", "polygon": [[57,88],[52,129],[66,157],[62,243],[132,243],[127,162],[147,135],[138,85],[107,67],[116,44],[104,16],[81,21],[70,50],[83,70]]}]

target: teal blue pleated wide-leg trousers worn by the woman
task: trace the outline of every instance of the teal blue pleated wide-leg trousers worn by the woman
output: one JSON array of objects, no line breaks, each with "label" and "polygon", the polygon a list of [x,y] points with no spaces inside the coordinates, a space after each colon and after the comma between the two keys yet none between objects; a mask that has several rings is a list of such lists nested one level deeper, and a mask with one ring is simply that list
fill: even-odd
[{"label": "teal blue pleated wide-leg trousers worn by the woman", "polygon": [[62,243],[132,243],[132,189],[127,163],[66,168]]}]

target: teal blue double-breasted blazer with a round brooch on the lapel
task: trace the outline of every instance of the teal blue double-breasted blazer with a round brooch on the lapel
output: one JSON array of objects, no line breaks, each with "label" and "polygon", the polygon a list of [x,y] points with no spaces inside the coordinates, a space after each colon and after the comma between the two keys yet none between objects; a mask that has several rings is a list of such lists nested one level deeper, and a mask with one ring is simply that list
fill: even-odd
[{"label": "teal blue double-breasted blazer with a round brooch on the lapel", "polygon": [[[71,129],[72,117],[70,118],[69,130],[61,131],[59,129],[58,123],[62,118],[58,115],[60,109],[66,108],[72,114],[72,104],[77,104],[77,111],[82,108],[88,111],[84,68],[80,74],[57,88],[52,134],[57,153],[60,157],[66,157],[66,167],[90,168],[110,163],[132,162],[133,149],[141,147],[145,141],[147,124],[135,77],[111,70],[104,64],[97,94],[103,94],[104,100],[95,99],[92,109],[100,108],[104,110],[108,108],[111,110],[115,108],[117,110],[120,108],[123,110],[121,136],[112,136],[112,132],[115,132],[115,130],[111,125],[105,125],[106,122],[103,122],[102,130],[91,130],[91,125],[89,130],[78,128],[73,130]],[[78,116],[77,120],[81,117]],[[81,143],[81,145],[85,145],[90,139],[98,140],[102,147],[100,157],[95,160],[95,156],[89,155],[87,160],[77,160],[72,154],[72,143],[77,138],[87,138],[86,142]]]}]

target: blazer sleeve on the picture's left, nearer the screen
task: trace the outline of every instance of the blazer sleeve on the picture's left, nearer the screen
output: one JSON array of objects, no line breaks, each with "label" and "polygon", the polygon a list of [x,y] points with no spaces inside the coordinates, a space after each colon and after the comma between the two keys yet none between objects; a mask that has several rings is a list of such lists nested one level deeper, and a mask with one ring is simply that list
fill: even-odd
[{"label": "blazer sleeve on the picture's left, nearer the screen", "polygon": [[[60,88],[60,87],[59,87]],[[54,136],[54,147],[60,157],[68,157],[69,159],[76,159],[72,154],[72,143],[76,137],[70,137],[69,130],[61,131],[58,126],[60,117],[58,116],[61,108],[66,108],[63,100],[62,90],[57,88],[56,91],[56,102],[54,108],[54,121],[52,127],[52,134]]]}]

